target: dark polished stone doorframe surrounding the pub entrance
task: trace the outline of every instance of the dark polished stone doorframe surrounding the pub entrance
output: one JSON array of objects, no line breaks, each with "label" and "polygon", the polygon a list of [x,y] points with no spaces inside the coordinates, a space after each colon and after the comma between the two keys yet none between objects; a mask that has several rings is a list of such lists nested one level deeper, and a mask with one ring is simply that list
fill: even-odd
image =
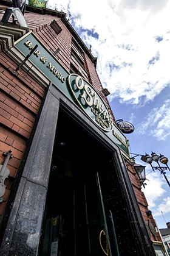
[{"label": "dark polished stone doorframe surrounding the pub entrance", "polygon": [[138,255],[155,255],[120,148],[52,83],[50,83],[46,94],[27,160],[22,160],[25,161],[24,171],[5,230],[1,254],[14,255],[18,252],[20,255],[38,255],[50,175],[49,163],[52,160],[60,108],[66,111],[95,140],[100,141],[104,148],[112,152],[129,207],[128,212]]}]

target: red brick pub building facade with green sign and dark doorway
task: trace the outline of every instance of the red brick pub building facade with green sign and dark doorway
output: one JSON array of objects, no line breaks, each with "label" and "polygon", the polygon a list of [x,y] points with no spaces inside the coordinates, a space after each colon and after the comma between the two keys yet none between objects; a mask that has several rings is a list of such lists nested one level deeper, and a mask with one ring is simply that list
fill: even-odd
[{"label": "red brick pub building facade with green sign and dark doorway", "polygon": [[[2,1],[0,20],[11,4]],[[1,166],[10,154],[10,172],[2,177],[0,255],[155,255],[161,238],[126,162],[128,143],[103,94],[97,58],[65,13],[27,5],[24,18],[27,27],[11,17],[0,23]],[[77,91],[84,81],[89,98],[81,105]],[[96,104],[101,99],[101,112],[106,106],[107,123],[112,116],[106,127],[115,133],[92,120],[95,108],[84,111],[91,92]]]}]

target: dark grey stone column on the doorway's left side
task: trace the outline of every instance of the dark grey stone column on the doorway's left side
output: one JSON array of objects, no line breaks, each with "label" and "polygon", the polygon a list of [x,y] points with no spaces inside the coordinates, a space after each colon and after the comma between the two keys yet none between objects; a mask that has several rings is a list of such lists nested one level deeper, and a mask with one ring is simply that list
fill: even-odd
[{"label": "dark grey stone column on the doorway's left side", "polygon": [[37,255],[59,100],[49,90],[2,241],[0,255]]}]

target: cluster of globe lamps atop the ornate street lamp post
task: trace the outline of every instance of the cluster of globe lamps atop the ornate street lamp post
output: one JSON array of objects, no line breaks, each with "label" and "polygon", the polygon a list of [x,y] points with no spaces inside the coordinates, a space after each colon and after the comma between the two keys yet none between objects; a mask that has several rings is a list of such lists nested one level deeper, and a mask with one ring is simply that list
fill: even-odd
[{"label": "cluster of globe lamps atop the ornate street lamp post", "polygon": [[[161,154],[157,155],[156,153],[152,152],[151,156],[148,154],[141,155],[141,160],[145,163],[149,163],[149,165],[151,165],[153,171],[155,171],[155,170],[160,171],[160,173],[163,174],[166,182],[168,183],[168,185],[170,187],[169,180],[167,179],[167,177],[165,175],[166,174],[165,170],[169,169],[167,157],[165,157],[164,155],[161,155]],[[152,165],[153,161],[156,162],[158,166],[153,166]],[[160,161],[161,163],[163,163],[166,166],[161,166],[158,161]],[[170,171],[170,169],[169,169],[169,171]]]}]

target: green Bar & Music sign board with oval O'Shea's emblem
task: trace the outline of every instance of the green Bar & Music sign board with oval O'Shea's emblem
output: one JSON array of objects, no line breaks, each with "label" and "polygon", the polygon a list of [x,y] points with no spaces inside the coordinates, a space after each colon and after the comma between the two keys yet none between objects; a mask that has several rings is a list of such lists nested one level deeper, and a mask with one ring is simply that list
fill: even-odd
[{"label": "green Bar & Music sign board with oval O'Shea's emblem", "polygon": [[29,57],[30,62],[47,76],[67,98],[71,99],[74,104],[76,103],[106,133],[110,140],[126,154],[129,154],[127,138],[115,126],[103,99],[89,82],[78,74],[69,74],[32,32],[16,41],[15,47],[26,57],[36,44],[38,44],[38,48]]}]

